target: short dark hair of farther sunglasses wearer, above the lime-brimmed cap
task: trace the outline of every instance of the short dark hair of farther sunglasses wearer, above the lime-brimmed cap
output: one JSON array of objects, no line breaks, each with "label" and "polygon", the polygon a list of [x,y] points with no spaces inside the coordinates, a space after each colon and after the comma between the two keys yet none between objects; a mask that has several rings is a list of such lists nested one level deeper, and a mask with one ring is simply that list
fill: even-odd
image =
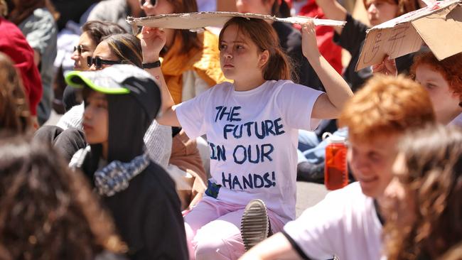
[{"label": "short dark hair of farther sunglasses wearer, above the lime-brimmed cap", "polygon": [[127,33],[127,31],[117,23],[108,21],[87,21],[82,26],[82,33],[88,33],[88,36],[95,42],[95,45],[98,45],[104,37],[117,33]]}]

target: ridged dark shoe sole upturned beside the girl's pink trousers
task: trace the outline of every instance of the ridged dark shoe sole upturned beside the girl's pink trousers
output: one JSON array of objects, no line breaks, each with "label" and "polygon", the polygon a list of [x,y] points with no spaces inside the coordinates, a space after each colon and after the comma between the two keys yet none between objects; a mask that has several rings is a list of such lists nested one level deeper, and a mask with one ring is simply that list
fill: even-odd
[{"label": "ridged dark shoe sole upturned beside the girl's pink trousers", "polygon": [[250,200],[241,219],[241,237],[245,251],[262,242],[269,234],[267,206],[262,200]]}]

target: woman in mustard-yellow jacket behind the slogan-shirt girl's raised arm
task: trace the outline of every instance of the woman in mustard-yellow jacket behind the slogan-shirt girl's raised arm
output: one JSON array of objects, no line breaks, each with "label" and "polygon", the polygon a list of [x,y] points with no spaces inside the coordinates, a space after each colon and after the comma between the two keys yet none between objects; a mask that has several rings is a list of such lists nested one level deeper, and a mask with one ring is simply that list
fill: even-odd
[{"label": "woman in mustard-yellow jacket behind the slogan-shirt girl's raised arm", "polygon": [[[198,11],[195,0],[139,0],[139,4],[147,16]],[[161,70],[175,104],[225,81],[220,70],[218,38],[214,33],[168,28],[164,31],[166,44],[160,53]],[[200,151],[205,156],[201,156]],[[171,163],[176,167],[168,171],[176,180],[183,209],[190,209],[203,196],[207,183],[204,165],[208,166],[209,157],[206,141],[190,139],[181,128],[173,127]]]}]

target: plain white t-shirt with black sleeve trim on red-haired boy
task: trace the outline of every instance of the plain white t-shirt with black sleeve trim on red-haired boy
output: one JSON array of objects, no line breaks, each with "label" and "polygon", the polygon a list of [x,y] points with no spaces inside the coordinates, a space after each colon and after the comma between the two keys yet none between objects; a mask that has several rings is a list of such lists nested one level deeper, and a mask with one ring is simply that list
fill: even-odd
[{"label": "plain white t-shirt with black sleeve trim on red-haired boy", "polygon": [[374,200],[362,193],[358,182],[328,193],[287,223],[284,233],[310,259],[382,257],[382,224]]}]

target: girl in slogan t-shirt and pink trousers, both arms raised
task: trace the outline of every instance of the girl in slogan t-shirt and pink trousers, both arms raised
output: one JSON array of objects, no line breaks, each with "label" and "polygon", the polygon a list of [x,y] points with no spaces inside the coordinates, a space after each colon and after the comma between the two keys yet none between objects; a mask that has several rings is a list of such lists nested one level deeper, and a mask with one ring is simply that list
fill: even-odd
[{"label": "girl in slogan t-shirt and pink trousers, both arms raised", "polygon": [[208,190],[185,219],[198,259],[237,259],[244,252],[240,220],[247,203],[263,200],[273,232],[295,217],[298,129],[336,118],[353,96],[347,83],[319,54],[312,22],[303,25],[303,55],[326,87],[319,92],[289,80],[291,66],[266,21],[232,18],[220,33],[225,82],[173,105],[163,80],[159,51],[165,34],[143,28],[146,70],[161,82],[159,124],[182,126],[193,139],[207,135]]}]

